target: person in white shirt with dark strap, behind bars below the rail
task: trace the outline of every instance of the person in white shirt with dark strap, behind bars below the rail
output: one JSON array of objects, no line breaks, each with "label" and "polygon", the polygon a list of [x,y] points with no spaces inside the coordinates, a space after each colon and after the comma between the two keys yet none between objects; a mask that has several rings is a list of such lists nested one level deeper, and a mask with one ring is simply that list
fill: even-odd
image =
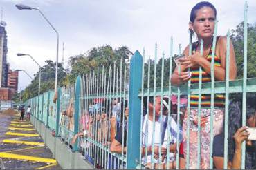
[{"label": "person in white shirt with dark strap, behind bars below the rail", "polygon": [[[154,98],[149,97],[149,104],[145,105],[149,109],[148,115],[143,117],[142,129],[142,156],[143,164],[146,168],[165,169],[165,161],[167,154],[167,145],[169,141],[170,155],[169,158],[174,159],[173,153],[176,153],[176,138],[174,138],[176,123],[169,116],[161,116],[161,96],[155,98],[155,121],[154,121]],[[146,98],[147,100],[147,98]],[[164,108],[165,106],[162,105]],[[163,110],[163,109],[162,109]],[[170,123],[170,134],[168,140],[167,122]],[[159,147],[161,147],[161,156],[159,156]],[[154,150],[154,151],[153,151]],[[146,155],[147,154],[147,155]],[[159,159],[161,158],[161,159]],[[173,162],[173,160],[172,160]],[[152,164],[153,163],[153,164]]]}]

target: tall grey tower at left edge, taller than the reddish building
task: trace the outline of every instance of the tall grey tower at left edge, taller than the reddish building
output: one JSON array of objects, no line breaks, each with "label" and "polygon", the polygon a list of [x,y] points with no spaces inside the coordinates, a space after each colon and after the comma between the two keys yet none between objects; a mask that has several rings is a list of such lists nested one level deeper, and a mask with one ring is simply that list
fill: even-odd
[{"label": "tall grey tower at left edge, taller than the reddish building", "polygon": [[0,87],[7,87],[8,64],[7,64],[7,34],[6,23],[0,21]]}]

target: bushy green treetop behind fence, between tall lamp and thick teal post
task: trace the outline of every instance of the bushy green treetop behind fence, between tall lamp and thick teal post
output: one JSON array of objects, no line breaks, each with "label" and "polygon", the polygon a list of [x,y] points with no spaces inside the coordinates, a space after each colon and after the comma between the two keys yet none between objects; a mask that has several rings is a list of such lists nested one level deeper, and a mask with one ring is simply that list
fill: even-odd
[{"label": "bushy green treetop behind fence, between tall lamp and thick teal post", "polygon": [[[111,81],[113,81],[114,63],[116,63],[116,70],[120,70],[120,62],[122,61],[123,70],[125,65],[128,65],[127,59],[129,59],[129,54],[132,53],[128,50],[128,47],[119,47],[118,49],[113,50],[111,46],[104,45],[102,47],[93,47],[86,54],[72,56],[69,61],[69,64],[71,65],[71,72],[66,76],[65,84],[75,83],[75,79],[79,75],[85,76],[87,74],[89,76],[91,73],[91,76],[93,76],[93,71],[95,74],[97,74],[98,71],[99,73],[102,73],[103,67],[105,72],[107,72],[109,67],[111,67]],[[122,77],[123,76],[122,72]]]}]

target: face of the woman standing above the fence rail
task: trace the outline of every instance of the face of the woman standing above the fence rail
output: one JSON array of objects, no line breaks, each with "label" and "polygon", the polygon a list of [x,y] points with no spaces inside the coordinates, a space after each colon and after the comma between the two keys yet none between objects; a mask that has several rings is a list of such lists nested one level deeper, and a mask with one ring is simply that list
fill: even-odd
[{"label": "face of the woman standing above the fence rail", "polygon": [[214,33],[214,21],[214,10],[210,7],[203,7],[197,10],[194,22],[190,23],[190,29],[194,30],[199,39],[208,39]]}]

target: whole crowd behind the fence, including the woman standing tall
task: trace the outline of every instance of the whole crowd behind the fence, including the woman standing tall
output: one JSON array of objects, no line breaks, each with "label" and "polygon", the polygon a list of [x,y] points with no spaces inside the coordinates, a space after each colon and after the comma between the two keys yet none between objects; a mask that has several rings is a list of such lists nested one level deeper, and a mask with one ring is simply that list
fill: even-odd
[{"label": "whole crowd behind the fence, including the woman standing tall", "polygon": [[[226,64],[230,68],[229,79],[235,80],[237,66],[232,42],[230,42],[229,63],[226,63],[227,37],[216,36],[214,42],[213,34],[216,18],[217,10],[212,3],[203,1],[192,8],[189,22],[190,40],[192,41],[192,36],[196,34],[198,41],[192,43],[192,55],[189,54],[189,45],[185,47],[183,51],[185,56],[177,62],[180,69],[177,66],[172,74],[170,80],[172,85],[179,86],[188,82],[188,80],[191,80],[192,84],[199,83],[199,66],[202,69],[203,83],[211,82],[210,65],[213,55],[215,81],[225,81]],[[201,47],[201,41],[203,41],[203,47]],[[203,49],[203,54],[200,53],[200,49]],[[181,108],[177,108],[177,96],[142,98],[143,121],[142,129],[140,129],[142,134],[140,152],[143,165],[148,169],[176,169],[176,158],[179,158],[179,169],[185,169],[186,164],[189,164],[190,169],[196,169],[198,164],[200,169],[210,169],[210,157],[212,157],[214,167],[223,169],[225,98],[224,94],[214,94],[212,155],[210,155],[210,94],[202,94],[201,102],[199,102],[199,94],[191,95],[190,114],[187,111],[187,96],[182,96]],[[248,99],[248,101],[251,100]],[[201,103],[200,110],[198,109],[199,103]],[[172,105],[172,107],[169,107],[169,105]],[[169,108],[172,108],[172,110],[168,110]],[[177,112],[178,109],[181,110],[179,113]],[[201,114],[200,119],[199,112]],[[249,132],[247,131],[248,127],[255,127],[255,103],[248,104],[246,109],[247,126],[245,127],[241,126],[241,101],[230,100],[228,112],[228,169],[241,168],[241,144],[245,140],[246,169],[255,169],[256,144],[255,140],[248,140]],[[102,99],[95,102],[89,107],[88,113],[84,113],[82,126],[84,132],[76,134],[73,142],[75,142],[77,136],[86,136],[97,140],[104,146],[109,146],[111,153],[126,154],[128,116],[127,100],[116,98],[110,101]],[[180,122],[177,122],[178,116],[181,118]],[[187,127],[188,122],[190,128]],[[187,136],[188,131],[190,136]],[[200,145],[197,141],[199,131],[201,134]],[[129,140],[132,139],[129,138]],[[178,147],[177,144],[179,144]],[[107,156],[103,154],[104,156],[100,158],[96,149],[93,151],[97,153],[90,155],[91,149],[97,147],[92,145],[89,140],[85,140],[84,145],[86,146],[86,159],[91,160],[98,168],[120,169],[120,165],[125,167],[125,163],[112,154]],[[190,147],[189,151],[187,151],[187,145]],[[179,148],[179,156],[176,155],[178,153],[176,148]],[[101,153],[106,153],[104,149],[98,149]],[[167,149],[169,150],[167,151]],[[197,156],[198,149],[201,149],[200,162],[198,162]],[[189,156],[190,162],[186,162],[187,156]],[[97,160],[100,160],[100,163]]]}]

